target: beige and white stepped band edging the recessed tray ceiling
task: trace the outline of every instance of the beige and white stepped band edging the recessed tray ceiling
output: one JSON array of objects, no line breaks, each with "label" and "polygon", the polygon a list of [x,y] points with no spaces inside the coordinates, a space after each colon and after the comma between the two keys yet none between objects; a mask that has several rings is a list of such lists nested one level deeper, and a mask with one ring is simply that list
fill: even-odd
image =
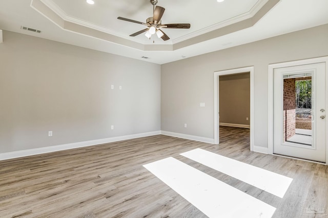
[{"label": "beige and white stepped band edging the recessed tray ceiling", "polygon": [[66,12],[57,6],[52,0],[31,0],[31,7],[66,31],[131,47],[141,51],[175,51],[202,41],[252,27],[280,1],[281,0],[258,0],[249,12],[218,22],[215,25],[203,28],[191,34],[172,39],[169,42],[157,43],[156,45],[145,43],[145,40],[131,40],[131,37],[119,34],[117,31],[68,16]]}]

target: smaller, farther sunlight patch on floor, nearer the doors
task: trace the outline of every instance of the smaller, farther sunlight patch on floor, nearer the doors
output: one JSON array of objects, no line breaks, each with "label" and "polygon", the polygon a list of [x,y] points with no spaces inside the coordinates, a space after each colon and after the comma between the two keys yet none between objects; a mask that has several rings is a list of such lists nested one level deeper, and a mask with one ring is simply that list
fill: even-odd
[{"label": "smaller, farther sunlight patch on floor, nearer the doors", "polygon": [[293,181],[292,178],[203,149],[194,149],[180,155],[272,193],[280,198],[283,198],[285,192]]}]

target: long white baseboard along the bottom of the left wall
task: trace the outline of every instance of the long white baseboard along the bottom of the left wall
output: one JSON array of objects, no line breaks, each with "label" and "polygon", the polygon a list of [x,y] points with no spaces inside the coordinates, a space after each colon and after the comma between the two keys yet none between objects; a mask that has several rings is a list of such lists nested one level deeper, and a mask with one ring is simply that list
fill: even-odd
[{"label": "long white baseboard along the bottom of the left wall", "polygon": [[128,140],[128,139],[133,139],[133,138],[141,138],[141,137],[152,136],[152,135],[160,135],[160,131],[139,133],[139,134],[133,134],[133,135],[124,135],[124,136],[96,139],[96,140],[90,140],[90,141],[81,141],[81,142],[75,142],[75,143],[69,143],[69,144],[60,144],[59,146],[50,146],[50,147],[29,149],[29,150],[16,151],[16,152],[8,152],[8,153],[0,154],[0,160],[7,160],[7,159],[12,159],[12,158],[17,158],[17,157],[26,157],[26,156],[37,155],[37,154],[45,154],[45,153],[49,153],[49,152],[63,151],[63,150],[68,150],[68,149],[83,148],[83,147],[87,147],[87,146],[95,146],[97,144],[105,144],[105,143],[110,143],[110,142],[115,142],[115,141],[122,141],[122,140]]}]

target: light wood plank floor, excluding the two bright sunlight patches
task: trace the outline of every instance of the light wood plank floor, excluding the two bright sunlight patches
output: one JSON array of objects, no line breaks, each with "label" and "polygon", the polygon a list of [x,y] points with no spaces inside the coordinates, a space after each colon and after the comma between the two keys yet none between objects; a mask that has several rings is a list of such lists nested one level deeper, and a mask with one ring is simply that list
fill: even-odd
[{"label": "light wood plank floor, excluding the two bright sunlight patches", "polygon": [[[293,182],[281,199],[179,155],[195,148]],[[0,217],[206,217],[142,166],[170,156],[276,207],[273,217],[316,217],[302,213],[311,204],[328,213],[327,166],[250,152],[248,129],[223,127],[219,146],[158,135],[0,161]]]}]

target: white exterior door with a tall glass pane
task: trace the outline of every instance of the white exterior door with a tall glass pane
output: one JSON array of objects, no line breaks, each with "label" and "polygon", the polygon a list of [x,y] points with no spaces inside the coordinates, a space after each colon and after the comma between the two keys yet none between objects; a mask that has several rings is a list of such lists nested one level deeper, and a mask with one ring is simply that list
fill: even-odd
[{"label": "white exterior door with a tall glass pane", "polygon": [[326,162],[325,63],[274,69],[274,154]]}]

